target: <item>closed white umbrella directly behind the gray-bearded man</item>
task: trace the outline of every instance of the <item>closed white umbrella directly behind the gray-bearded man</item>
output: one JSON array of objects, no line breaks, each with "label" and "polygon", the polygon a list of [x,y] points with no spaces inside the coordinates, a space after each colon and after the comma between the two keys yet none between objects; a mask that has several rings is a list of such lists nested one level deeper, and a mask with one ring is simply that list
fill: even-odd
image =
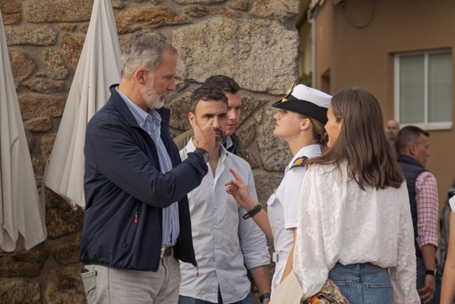
[{"label": "closed white umbrella directly behind the gray-bearded man", "polygon": [[90,118],[120,80],[120,45],[110,0],[95,0],[84,47],[68,94],[45,185],[73,206],[85,206],[84,143]]}]

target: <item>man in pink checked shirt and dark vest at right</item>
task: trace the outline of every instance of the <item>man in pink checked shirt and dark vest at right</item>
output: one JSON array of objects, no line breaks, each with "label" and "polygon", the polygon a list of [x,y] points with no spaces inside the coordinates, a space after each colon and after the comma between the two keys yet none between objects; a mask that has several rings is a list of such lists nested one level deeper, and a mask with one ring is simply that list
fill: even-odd
[{"label": "man in pink checked shirt and dark vest at right", "polygon": [[422,303],[439,303],[441,269],[437,266],[439,199],[436,177],[425,169],[429,153],[429,133],[407,126],[395,140],[400,164],[410,196],[417,262],[417,291]]}]

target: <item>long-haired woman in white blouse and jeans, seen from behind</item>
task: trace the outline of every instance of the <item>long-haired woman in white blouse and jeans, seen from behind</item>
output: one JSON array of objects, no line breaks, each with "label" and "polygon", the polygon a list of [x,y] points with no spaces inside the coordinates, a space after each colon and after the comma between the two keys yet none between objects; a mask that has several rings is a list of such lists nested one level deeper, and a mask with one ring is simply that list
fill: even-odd
[{"label": "long-haired woman in white blouse and jeans, seen from behind", "polygon": [[330,278],[350,303],[420,303],[405,179],[373,95],[347,89],[327,112],[328,150],[309,159],[294,273],[303,299]]}]

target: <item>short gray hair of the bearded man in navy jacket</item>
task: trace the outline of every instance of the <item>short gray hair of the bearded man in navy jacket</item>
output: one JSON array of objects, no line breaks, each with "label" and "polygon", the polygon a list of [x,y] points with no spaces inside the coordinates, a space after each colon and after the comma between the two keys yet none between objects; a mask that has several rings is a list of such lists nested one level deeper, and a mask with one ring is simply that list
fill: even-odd
[{"label": "short gray hair of the bearded man in navy jacket", "polygon": [[134,34],[122,51],[122,78],[131,78],[138,68],[153,73],[163,61],[164,50],[177,56],[176,48],[164,36],[157,33]]}]

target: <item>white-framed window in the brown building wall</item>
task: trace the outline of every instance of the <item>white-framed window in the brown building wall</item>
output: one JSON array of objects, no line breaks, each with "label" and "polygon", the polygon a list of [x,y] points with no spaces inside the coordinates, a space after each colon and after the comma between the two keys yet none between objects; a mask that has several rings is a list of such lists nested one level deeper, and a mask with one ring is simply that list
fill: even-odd
[{"label": "white-framed window in the brown building wall", "polygon": [[452,126],[450,50],[395,55],[395,119],[424,130]]}]

